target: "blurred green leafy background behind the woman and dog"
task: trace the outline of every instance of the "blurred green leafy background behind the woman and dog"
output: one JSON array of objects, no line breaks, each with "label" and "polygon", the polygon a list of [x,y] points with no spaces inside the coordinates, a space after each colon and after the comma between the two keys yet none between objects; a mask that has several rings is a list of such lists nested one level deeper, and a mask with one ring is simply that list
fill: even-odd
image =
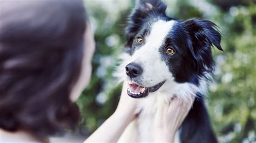
[{"label": "blurred green leafy background behind the woman and dog", "polygon": [[[219,26],[224,52],[213,48],[214,82],[206,97],[211,122],[220,142],[256,139],[256,1],[169,0],[167,15],[185,20],[208,19]],[[112,73],[124,46],[131,0],[85,0],[97,44],[89,86],[77,103],[82,113],[79,132],[89,135],[117,107],[121,85]],[[129,105],[127,105],[129,106]]]}]

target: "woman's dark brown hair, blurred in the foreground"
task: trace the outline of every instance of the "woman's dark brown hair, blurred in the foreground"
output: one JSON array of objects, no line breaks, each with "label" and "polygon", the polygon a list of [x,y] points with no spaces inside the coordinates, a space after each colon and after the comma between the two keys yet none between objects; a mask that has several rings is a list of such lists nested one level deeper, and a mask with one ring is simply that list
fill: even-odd
[{"label": "woman's dark brown hair, blurred in the foreground", "polygon": [[83,1],[5,1],[0,20],[0,128],[42,137],[75,127]]}]

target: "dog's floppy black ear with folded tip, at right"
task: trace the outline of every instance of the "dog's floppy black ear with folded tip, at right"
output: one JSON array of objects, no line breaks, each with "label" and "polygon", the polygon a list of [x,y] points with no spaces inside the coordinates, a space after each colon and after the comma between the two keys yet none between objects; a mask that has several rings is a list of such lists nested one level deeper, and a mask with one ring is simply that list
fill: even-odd
[{"label": "dog's floppy black ear with folded tip, at right", "polygon": [[218,26],[208,20],[188,19],[183,22],[183,27],[190,35],[188,41],[190,51],[196,59],[198,69],[201,72],[212,71],[213,60],[211,46],[223,51],[220,45],[221,34],[217,30]]}]

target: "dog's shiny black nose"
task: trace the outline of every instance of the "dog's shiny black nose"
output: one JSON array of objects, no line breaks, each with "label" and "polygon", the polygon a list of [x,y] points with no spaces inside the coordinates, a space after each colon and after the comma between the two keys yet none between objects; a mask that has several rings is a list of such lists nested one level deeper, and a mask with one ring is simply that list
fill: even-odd
[{"label": "dog's shiny black nose", "polygon": [[126,75],[128,75],[131,78],[137,77],[138,75],[142,74],[143,69],[136,63],[129,63],[125,67]]}]

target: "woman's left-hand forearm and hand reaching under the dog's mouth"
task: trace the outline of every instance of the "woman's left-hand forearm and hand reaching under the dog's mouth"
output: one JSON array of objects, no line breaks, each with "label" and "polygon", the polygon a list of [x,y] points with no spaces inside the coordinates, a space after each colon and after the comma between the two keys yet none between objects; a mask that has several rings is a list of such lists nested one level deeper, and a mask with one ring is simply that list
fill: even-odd
[{"label": "woman's left-hand forearm and hand reaching under the dog's mouth", "polygon": [[125,128],[136,118],[136,99],[127,95],[125,82],[117,110],[84,142],[117,142]]}]

